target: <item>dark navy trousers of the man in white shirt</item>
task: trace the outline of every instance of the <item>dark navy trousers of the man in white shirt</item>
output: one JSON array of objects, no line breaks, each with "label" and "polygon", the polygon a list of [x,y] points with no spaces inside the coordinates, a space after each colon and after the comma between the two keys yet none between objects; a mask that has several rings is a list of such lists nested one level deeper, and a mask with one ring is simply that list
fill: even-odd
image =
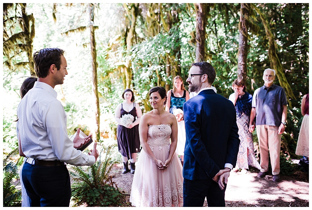
[{"label": "dark navy trousers of the man in white shirt", "polygon": [[37,166],[25,163],[22,180],[31,207],[69,207],[71,182],[66,165]]}]

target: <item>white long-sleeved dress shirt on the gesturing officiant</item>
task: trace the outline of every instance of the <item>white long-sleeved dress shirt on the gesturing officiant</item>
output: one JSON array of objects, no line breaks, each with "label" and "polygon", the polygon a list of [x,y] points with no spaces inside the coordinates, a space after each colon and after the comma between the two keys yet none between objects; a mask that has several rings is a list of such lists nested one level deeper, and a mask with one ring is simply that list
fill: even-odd
[{"label": "white long-sleeved dress shirt on the gesturing officiant", "polygon": [[18,105],[23,153],[34,159],[60,160],[77,166],[94,164],[95,157],[75,149],[68,138],[67,116],[56,96],[50,85],[36,81]]}]

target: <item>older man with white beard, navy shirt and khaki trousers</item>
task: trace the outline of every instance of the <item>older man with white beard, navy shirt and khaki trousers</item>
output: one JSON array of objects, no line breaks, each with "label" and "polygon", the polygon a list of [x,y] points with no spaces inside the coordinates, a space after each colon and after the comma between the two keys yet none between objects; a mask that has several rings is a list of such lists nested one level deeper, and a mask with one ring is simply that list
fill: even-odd
[{"label": "older man with white beard, navy shirt and khaki trousers", "polygon": [[285,131],[287,117],[287,100],[285,90],[275,85],[275,70],[263,72],[264,85],[255,90],[252,97],[249,131],[256,129],[260,146],[261,170],[258,178],[266,176],[269,170],[269,152],[273,182],[280,181],[280,139]]}]

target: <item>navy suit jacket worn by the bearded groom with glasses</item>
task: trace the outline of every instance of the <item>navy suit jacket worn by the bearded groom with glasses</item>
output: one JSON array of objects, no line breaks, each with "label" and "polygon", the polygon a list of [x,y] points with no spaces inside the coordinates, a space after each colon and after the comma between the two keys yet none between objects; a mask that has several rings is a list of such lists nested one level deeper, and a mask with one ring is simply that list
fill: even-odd
[{"label": "navy suit jacket worn by the bearded groom with glasses", "polygon": [[225,163],[236,165],[240,139],[232,101],[202,90],[183,104],[186,143],[183,178],[213,178]]}]

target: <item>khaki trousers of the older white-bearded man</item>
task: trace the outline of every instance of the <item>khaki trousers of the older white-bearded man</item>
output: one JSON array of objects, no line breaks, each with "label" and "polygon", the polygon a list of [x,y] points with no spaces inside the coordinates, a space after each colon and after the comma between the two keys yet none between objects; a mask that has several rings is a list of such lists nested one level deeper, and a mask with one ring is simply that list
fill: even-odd
[{"label": "khaki trousers of the older white-bearded man", "polygon": [[279,174],[281,134],[278,134],[278,126],[256,125],[256,129],[260,147],[260,171],[267,172],[269,170],[270,151],[272,174]]}]

